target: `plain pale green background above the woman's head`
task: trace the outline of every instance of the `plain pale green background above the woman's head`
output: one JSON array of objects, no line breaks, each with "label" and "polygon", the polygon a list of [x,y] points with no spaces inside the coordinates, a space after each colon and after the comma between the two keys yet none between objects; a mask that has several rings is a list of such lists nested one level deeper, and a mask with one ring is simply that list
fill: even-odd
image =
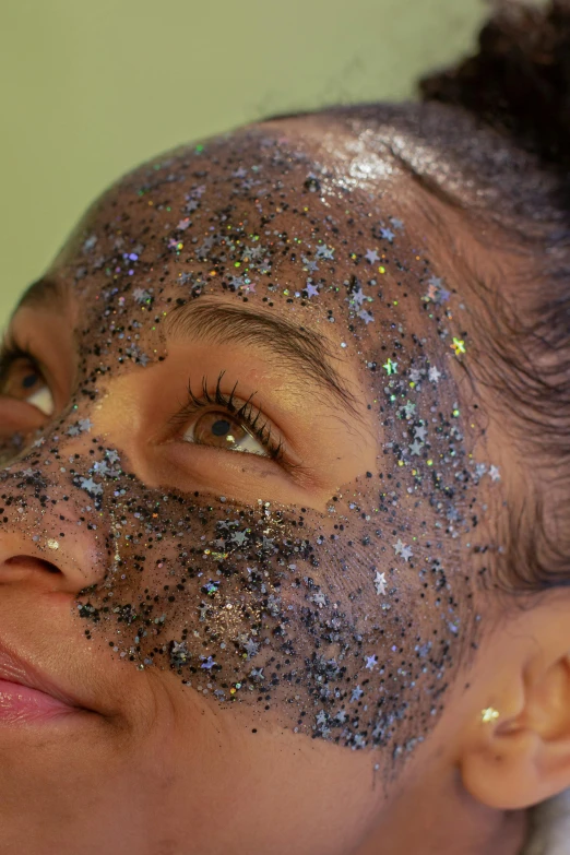
[{"label": "plain pale green background above the woman's head", "polygon": [[484,0],[0,0],[0,325],[87,204],[179,143],[415,97]]}]

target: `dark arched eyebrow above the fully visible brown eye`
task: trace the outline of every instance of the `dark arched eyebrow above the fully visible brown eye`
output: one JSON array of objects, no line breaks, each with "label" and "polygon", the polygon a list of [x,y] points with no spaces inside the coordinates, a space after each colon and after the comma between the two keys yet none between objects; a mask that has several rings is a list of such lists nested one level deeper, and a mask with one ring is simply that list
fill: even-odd
[{"label": "dark arched eyebrow above the fully visible brown eye", "polygon": [[360,416],[355,395],[332,365],[339,357],[332,354],[329,340],[312,330],[264,312],[205,301],[175,309],[165,323],[167,336],[173,339],[257,347],[280,367],[294,371],[297,380],[318,388],[351,415]]}]

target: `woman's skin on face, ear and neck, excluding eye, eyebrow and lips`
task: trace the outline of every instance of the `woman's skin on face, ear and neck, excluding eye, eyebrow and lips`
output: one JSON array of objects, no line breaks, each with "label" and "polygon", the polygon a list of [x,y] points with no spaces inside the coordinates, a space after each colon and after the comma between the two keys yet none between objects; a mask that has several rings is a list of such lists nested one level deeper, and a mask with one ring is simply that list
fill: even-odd
[{"label": "woman's skin on face, ear and neck, excluding eye, eyebrow and lips", "polygon": [[[522,476],[462,369],[476,295],[448,283],[477,237],[333,119],[202,145],[108,191],[11,322],[54,413],[4,368],[1,638],[90,713],[0,729],[0,852],[514,855],[570,786],[569,597],[480,585]],[[346,406],[219,314],[183,339],[201,307],[309,331]],[[181,412],[224,371],[282,460],[221,448],[219,403]]]}]

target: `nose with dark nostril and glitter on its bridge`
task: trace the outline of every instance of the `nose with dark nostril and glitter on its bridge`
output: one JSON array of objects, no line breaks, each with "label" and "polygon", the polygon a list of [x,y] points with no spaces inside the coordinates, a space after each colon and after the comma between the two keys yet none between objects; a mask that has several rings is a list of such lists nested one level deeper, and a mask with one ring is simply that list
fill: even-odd
[{"label": "nose with dark nostril and glitter on its bridge", "polygon": [[97,454],[86,429],[51,432],[0,472],[0,585],[49,579],[50,590],[76,593],[112,566],[112,512],[100,500],[120,472],[118,452]]}]

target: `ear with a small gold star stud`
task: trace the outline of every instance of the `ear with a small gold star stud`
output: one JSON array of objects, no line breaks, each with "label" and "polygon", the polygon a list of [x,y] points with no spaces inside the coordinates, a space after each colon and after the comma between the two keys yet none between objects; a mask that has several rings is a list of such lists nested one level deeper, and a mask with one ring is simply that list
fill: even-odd
[{"label": "ear with a small gold star stud", "polygon": [[504,713],[490,723],[479,717],[464,744],[464,787],[488,807],[522,810],[570,787],[570,654],[548,664],[547,653],[519,678],[501,675],[503,690],[497,684],[494,697]]}]

